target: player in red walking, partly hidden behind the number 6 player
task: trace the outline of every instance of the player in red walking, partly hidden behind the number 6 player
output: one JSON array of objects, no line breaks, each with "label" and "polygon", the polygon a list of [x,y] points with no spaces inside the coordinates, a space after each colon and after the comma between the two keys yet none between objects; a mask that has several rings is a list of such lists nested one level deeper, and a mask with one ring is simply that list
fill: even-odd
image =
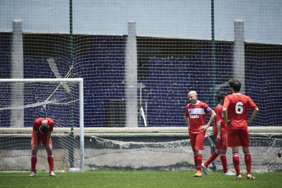
[{"label": "player in red walking, partly hidden behind the number 6 player", "polygon": [[[212,155],[206,160],[205,163],[202,163],[202,168],[206,175],[207,173],[207,166],[211,164],[214,159],[216,159],[220,155],[220,160],[223,167],[223,175],[235,175],[233,172],[228,170],[227,167],[227,159],[226,159],[226,151],[227,151],[227,125],[224,121],[223,114],[222,114],[222,107],[224,103],[224,99],[227,96],[227,93],[221,92],[217,95],[217,100],[219,104],[214,109],[217,116],[214,120],[214,128],[213,134],[214,138],[216,139],[216,151],[212,153]],[[232,119],[228,119],[228,122]]]}]

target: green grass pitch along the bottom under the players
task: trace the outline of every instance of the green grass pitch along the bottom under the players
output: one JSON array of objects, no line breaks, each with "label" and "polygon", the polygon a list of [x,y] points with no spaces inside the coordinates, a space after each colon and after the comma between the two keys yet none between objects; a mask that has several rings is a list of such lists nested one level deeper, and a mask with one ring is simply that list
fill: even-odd
[{"label": "green grass pitch along the bottom under the players", "polygon": [[209,175],[193,177],[196,171],[145,171],[145,170],[87,170],[81,172],[0,172],[0,187],[11,188],[179,188],[179,187],[282,187],[282,172],[255,173],[255,180],[233,180],[235,176],[223,175],[223,171],[209,171]]}]

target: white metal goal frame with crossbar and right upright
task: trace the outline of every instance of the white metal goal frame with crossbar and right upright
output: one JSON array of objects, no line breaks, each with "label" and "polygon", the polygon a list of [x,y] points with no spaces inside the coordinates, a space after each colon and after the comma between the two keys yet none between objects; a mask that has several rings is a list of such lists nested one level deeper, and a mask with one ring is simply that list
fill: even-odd
[{"label": "white metal goal frame with crossbar and right upright", "polygon": [[[34,79],[16,79],[16,78],[13,78],[13,79],[0,79],[0,83],[43,83],[43,82],[44,83],[71,83],[71,82],[79,83],[80,171],[84,172],[83,78],[34,78]],[[57,89],[58,89],[58,87],[57,87]],[[55,91],[53,91],[53,93]],[[51,95],[50,95],[50,97],[51,97]],[[15,108],[21,108],[21,107],[15,107]],[[25,107],[22,107],[22,108],[25,108]],[[4,109],[4,108],[0,108],[0,110],[1,109]],[[73,134],[71,134],[71,135],[73,135]],[[73,147],[73,146],[70,146],[70,147]]]}]

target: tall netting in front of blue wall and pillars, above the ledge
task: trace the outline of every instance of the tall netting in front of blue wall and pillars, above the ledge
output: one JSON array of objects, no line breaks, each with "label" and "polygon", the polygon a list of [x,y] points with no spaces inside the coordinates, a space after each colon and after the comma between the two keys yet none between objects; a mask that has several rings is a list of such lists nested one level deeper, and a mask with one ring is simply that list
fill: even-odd
[{"label": "tall netting in front of blue wall and pillars, above the ledge", "polygon": [[85,127],[144,127],[140,106],[148,127],[185,127],[188,92],[214,108],[231,78],[260,109],[250,126],[282,123],[280,0],[0,5],[0,77],[84,78]]}]

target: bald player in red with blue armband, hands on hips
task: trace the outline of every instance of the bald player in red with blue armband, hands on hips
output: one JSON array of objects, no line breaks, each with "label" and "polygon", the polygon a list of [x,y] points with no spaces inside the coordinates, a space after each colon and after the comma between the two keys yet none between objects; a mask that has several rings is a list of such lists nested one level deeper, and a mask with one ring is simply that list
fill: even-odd
[{"label": "bald player in red with blue armband, hands on hips", "polygon": [[[186,106],[184,119],[187,124],[190,136],[191,147],[194,152],[194,162],[197,172],[194,177],[202,177],[202,151],[206,129],[211,125],[216,117],[216,113],[206,103],[197,99],[196,91],[190,91],[188,97],[191,103]],[[209,122],[206,124],[206,114],[211,114]]]}]

